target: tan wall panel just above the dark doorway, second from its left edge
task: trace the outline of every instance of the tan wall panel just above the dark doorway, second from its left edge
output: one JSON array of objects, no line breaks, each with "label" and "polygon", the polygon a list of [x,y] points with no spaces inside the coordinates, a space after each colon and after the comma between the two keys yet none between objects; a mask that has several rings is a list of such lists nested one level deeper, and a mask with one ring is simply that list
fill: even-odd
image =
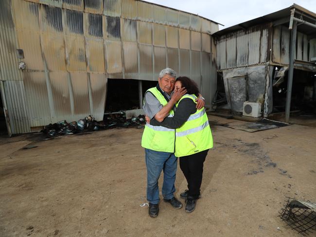
[{"label": "tan wall panel just above the dark doorway, second from its left edge", "polygon": [[138,79],[138,52],[137,43],[123,42],[124,77]]}]

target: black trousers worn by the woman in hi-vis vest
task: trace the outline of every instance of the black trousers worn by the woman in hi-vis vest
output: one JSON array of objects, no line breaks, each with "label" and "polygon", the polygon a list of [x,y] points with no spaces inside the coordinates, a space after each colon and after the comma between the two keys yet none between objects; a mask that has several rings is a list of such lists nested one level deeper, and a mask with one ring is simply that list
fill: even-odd
[{"label": "black trousers worn by the woman in hi-vis vest", "polygon": [[187,182],[189,196],[198,198],[203,177],[203,163],[209,149],[192,155],[180,157],[180,169],[182,170]]}]

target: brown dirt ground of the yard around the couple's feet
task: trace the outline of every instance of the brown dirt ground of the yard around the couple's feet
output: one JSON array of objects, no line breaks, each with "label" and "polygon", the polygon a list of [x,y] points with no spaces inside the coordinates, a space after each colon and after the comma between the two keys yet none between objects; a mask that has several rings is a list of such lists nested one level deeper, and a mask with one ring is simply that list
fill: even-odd
[{"label": "brown dirt ground of the yard around the couple's feet", "polygon": [[[247,133],[219,126],[244,121],[210,120],[214,148],[195,211],[160,202],[157,218],[140,207],[147,202],[143,130],[0,138],[0,237],[300,236],[278,212],[285,197],[316,202],[316,128]],[[37,147],[21,149],[28,144]],[[178,168],[176,197],[184,189]]]}]

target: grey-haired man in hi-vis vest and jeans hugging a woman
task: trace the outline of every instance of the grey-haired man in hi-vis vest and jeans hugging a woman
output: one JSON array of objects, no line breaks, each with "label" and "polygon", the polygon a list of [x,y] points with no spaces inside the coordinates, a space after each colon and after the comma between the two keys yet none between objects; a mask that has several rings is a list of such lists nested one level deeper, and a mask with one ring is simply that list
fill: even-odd
[{"label": "grey-haired man in hi-vis vest and jeans hugging a woman", "polygon": [[[165,117],[173,117],[176,102],[187,92],[185,88],[174,92],[175,83],[176,72],[171,68],[165,68],[159,73],[158,85],[146,91],[143,109],[150,119],[161,122]],[[204,106],[204,98],[202,99],[198,100],[199,108]],[[175,133],[175,129],[146,123],[142,135],[141,146],[145,148],[147,167],[148,213],[151,217],[157,217],[159,213],[158,179],[161,170],[164,174],[163,201],[170,203],[176,209],[182,207],[182,203],[174,196],[177,168],[177,157],[174,154]]]}]

